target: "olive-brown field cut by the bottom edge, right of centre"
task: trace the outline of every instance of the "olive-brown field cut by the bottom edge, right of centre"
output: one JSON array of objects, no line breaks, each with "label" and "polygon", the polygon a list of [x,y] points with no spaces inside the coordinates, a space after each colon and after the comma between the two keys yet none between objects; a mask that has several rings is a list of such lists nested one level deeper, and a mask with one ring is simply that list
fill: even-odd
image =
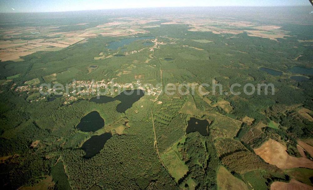
[{"label": "olive-brown field cut by the bottom edge, right of centre", "polygon": [[219,190],[248,190],[247,185],[234,177],[225,167],[220,166],[217,172],[217,186]]}]

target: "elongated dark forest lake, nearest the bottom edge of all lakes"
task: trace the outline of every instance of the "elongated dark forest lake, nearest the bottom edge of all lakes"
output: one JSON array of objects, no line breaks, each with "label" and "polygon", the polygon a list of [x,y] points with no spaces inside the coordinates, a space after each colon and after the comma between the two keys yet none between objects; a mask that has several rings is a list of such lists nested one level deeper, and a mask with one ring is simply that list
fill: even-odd
[{"label": "elongated dark forest lake, nearest the bottom edge of all lakes", "polygon": [[111,133],[104,133],[102,135],[94,135],[90,139],[88,139],[82,146],[86,153],[84,158],[91,158],[98,154],[103,146],[105,145],[106,141],[108,141],[112,137]]}]

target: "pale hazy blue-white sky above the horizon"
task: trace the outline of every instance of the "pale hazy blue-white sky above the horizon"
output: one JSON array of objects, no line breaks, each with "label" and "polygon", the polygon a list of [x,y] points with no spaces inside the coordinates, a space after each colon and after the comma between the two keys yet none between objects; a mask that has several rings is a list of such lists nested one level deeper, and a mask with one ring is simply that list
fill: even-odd
[{"label": "pale hazy blue-white sky above the horizon", "polygon": [[0,12],[55,12],[147,7],[301,5],[310,6],[310,2],[308,0],[0,0]]}]

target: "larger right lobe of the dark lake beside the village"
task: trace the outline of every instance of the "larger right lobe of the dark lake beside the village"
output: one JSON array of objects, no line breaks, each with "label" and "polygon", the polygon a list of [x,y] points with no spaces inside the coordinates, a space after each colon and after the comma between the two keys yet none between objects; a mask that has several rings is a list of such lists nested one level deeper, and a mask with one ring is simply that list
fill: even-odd
[{"label": "larger right lobe of the dark lake beside the village", "polygon": [[131,93],[131,91],[132,90],[125,90],[115,97],[116,100],[121,101],[116,107],[118,112],[125,113],[127,109],[131,108],[136,101],[140,100],[140,98],[145,95],[143,90],[134,90],[133,93]]}]

